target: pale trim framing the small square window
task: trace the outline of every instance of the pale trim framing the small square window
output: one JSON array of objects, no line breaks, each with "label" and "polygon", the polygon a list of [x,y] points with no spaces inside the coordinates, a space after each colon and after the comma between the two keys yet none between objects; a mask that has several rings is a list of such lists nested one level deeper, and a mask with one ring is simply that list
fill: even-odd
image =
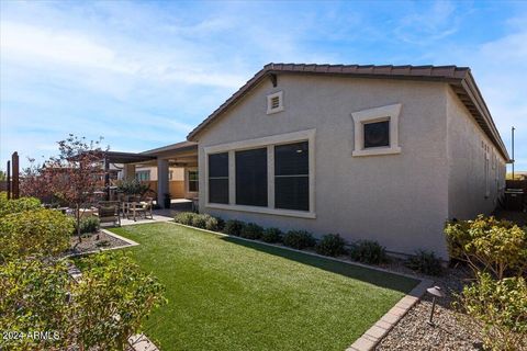
[{"label": "pale trim framing the small square window", "polygon": [[[399,146],[400,114],[400,103],[351,113],[355,124],[355,149],[351,156],[401,154],[401,147]],[[365,124],[383,121],[390,121],[390,146],[365,148]]]}]

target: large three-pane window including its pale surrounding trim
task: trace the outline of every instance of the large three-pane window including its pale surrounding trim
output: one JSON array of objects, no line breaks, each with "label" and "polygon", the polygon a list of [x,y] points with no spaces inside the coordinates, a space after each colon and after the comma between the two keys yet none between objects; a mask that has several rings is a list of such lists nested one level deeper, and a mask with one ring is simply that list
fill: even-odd
[{"label": "large three-pane window including its pale surrounding trim", "polygon": [[204,147],[205,206],[316,218],[315,133],[299,131]]}]

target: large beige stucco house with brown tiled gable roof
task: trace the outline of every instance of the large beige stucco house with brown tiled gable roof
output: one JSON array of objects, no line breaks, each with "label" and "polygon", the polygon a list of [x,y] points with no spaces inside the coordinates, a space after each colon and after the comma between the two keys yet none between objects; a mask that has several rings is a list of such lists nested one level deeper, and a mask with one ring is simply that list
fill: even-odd
[{"label": "large beige stucco house with brown tiled gable roof", "polygon": [[200,211],[448,257],[507,150],[469,68],[269,64],[189,136]]}]

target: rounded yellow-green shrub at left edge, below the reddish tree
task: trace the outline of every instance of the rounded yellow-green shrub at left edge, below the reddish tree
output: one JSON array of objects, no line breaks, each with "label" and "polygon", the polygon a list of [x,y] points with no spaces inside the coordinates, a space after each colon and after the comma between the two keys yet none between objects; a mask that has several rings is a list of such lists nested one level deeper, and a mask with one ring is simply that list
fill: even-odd
[{"label": "rounded yellow-green shrub at left edge, below the reddish tree", "polygon": [[0,217],[0,262],[69,248],[74,220],[58,211],[32,210]]}]

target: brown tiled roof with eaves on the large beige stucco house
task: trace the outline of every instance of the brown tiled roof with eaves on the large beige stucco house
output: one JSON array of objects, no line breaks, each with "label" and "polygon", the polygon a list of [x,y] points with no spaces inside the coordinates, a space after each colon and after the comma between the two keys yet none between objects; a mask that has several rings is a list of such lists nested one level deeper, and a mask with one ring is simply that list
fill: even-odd
[{"label": "brown tiled roof with eaves on the large beige stucco house", "polygon": [[492,120],[491,113],[481,95],[474,78],[468,67],[457,66],[374,66],[374,65],[305,65],[305,64],[268,64],[249,79],[238,91],[228,98],[209,117],[200,123],[187,136],[189,140],[198,140],[197,136],[211,123],[215,122],[228,107],[237,103],[248,91],[261,80],[270,77],[273,81],[278,73],[346,76],[356,78],[382,78],[441,81],[451,86],[460,101],[470,111],[476,123],[494,143],[503,157],[509,161],[507,149]]}]

